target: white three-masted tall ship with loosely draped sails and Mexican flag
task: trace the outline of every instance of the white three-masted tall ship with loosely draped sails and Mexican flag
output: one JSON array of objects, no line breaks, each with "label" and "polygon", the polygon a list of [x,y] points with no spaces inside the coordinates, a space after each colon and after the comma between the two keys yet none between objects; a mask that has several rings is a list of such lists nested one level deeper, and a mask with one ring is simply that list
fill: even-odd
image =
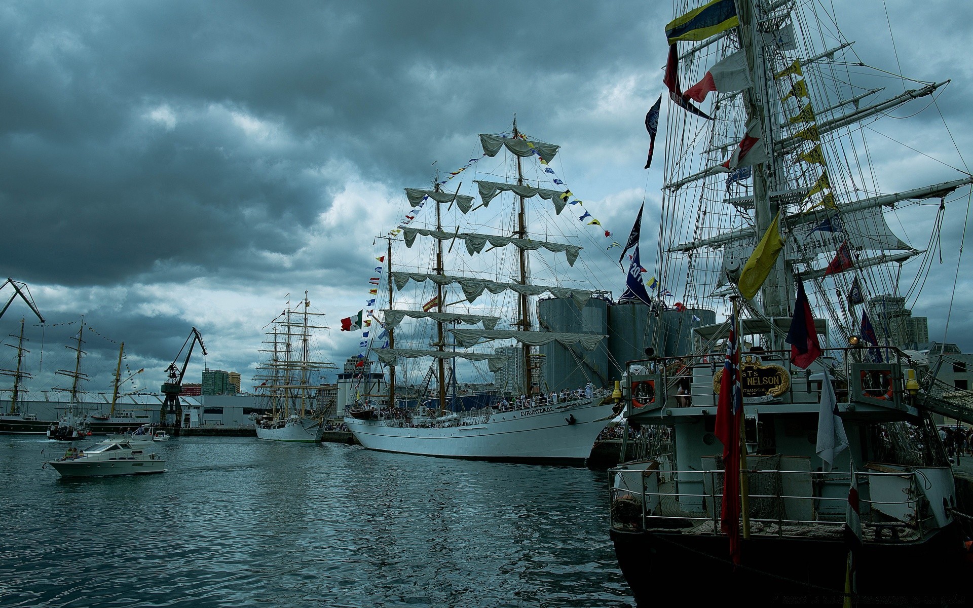
[{"label": "white three-masted tall ship with loosely draped sails and Mexican flag", "polygon": [[[387,300],[381,303],[385,304],[381,327],[388,334],[388,343],[372,352],[389,368],[389,396],[362,396],[344,423],[362,446],[382,451],[533,462],[583,461],[590,455],[598,433],[611,420],[616,402],[609,390],[591,384],[587,391],[549,392],[540,385],[540,357],[532,350],[552,341],[592,350],[605,338],[543,331],[534,319],[532,297],[550,294],[580,310],[595,294],[591,288],[560,284],[563,277],[557,272],[547,284],[531,280],[529,251],[562,253],[567,265],[573,267],[582,249],[549,241],[528,229],[529,214],[543,217],[550,214],[549,208],[559,214],[568,203],[569,192],[540,187],[539,179],[545,176],[541,164],[532,167],[537,171],[537,185],[524,177],[525,162],[546,164],[559,147],[527,137],[518,130],[516,121],[512,133],[482,134],[480,140],[486,157],[510,155],[501,159],[512,169],[513,178],[477,181],[481,201],[476,207],[474,197],[460,195],[458,186],[455,192],[445,192],[445,180],[437,179],[431,190],[406,189],[414,208],[423,201],[435,208],[429,228],[404,227],[387,237],[387,294],[383,294]],[[531,210],[528,201],[538,199],[540,207]],[[491,201],[493,206],[487,208]],[[447,217],[455,217],[456,224],[448,225]],[[460,222],[470,228],[463,228]],[[550,225],[545,225],[545,230],[549,229]],[[412,268],[398,262],[401,266],[393,266],[392,242],[400,232],[407,248],[412,248],[418,237],[430,239]],[[462,258],[464,251],[467,257]],[[446,256],[450,254],[450,259],[461,258],[455,268],[447,267]],[[399,302],[394,298],[393,285],[400,292]],[[408,287],[414,291],[405,291]],[[495,295],[496,301],[479,300],[484,291]],[[416,327],[400,325],[407,317]],[[460,329],[460,324],[482,329]],[[518,346],[494,347],[511,342]],[[414,408],[400,407],[395,396],[397,374],[402,373],[407,360],[430,358],[425,384],[435,378],[438,395],[428,401],[420,396]],[[472,367],[474,373],[486,377],[487,372],[476,367],[484,362],[489,372],[508,367],[520,370],[516,384],[510,387],[513,390],[481,401],[479,405],[486,407],[457,406],[457,366]],[[583,384],[585,379],[591,378],[579,377],[578,383]]]}]

